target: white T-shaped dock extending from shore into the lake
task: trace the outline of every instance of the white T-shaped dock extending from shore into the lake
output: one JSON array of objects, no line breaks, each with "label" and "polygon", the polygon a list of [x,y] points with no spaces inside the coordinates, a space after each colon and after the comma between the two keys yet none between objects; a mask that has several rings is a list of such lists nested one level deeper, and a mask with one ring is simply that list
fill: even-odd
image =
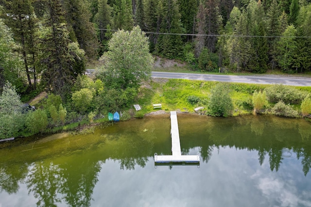
[{"label": "white T-shaped dock extending from shore into the lake", "polygon": [[155,153],[155,163],[168,162],[200,162],[200,155],[181,155],[179,130],[176,111],[171,111],[171,138],[172,138],[172,155],[157,155]]}]

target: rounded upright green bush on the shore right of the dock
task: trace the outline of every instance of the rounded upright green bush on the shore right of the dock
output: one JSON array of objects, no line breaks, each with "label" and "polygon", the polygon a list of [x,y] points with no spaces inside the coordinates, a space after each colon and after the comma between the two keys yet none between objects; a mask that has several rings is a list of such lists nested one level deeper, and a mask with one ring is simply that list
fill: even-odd
[{"label": "rounded upright green bush on the shore right of the dock", "polygon": [[208,101],[208,114],[227,117],[233,110],[232,99],[226,84],[219,83],[211,89]]}]

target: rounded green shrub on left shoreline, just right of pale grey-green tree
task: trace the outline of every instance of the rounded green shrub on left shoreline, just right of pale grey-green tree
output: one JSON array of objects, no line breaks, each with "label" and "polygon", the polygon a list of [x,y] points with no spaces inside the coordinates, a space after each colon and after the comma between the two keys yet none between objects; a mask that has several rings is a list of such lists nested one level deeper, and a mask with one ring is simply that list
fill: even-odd
[{"label": "rounded green shrub on left shoreline, just right of pale grey-green tree", "polygon": [[31,133],[44,132],[48,126],[48,115],[45,110],[38,109],[29,112],[26,117],[25,125]]}]

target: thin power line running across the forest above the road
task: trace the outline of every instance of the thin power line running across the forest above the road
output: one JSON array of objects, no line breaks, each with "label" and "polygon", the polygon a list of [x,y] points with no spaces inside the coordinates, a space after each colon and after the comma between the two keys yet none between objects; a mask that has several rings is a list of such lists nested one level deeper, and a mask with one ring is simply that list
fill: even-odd
[{"label": "thin power line running across the forest above the road", "polygon": [[[110,30],[110,29],[102,29],[99,28],[97,30],[104,31],[113,31],[116,32],[118,30]],[[144,32],[144,31],[142,31]],[[236,34],[184,34],[184,33],[164,33],[164,32],[145,32],[146,34],[164,34],[164,35],[181,35],[181,36],[205,36],[205,37],[256,37],[256,38],[311,38],[311,36],[260,36],[260,35],[236,35]]]}]

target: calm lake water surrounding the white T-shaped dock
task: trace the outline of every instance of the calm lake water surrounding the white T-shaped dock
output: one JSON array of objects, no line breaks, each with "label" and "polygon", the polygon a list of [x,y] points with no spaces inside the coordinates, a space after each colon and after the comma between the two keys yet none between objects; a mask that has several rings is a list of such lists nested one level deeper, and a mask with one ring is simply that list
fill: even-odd
[{"label": "calm lake water surrounding the white T-shaped dock", "polygon": [[178,113],[200,165],[155,166],[171,155],[169,117],[0,149],[0,207],[311,207],[310,122]]}]

